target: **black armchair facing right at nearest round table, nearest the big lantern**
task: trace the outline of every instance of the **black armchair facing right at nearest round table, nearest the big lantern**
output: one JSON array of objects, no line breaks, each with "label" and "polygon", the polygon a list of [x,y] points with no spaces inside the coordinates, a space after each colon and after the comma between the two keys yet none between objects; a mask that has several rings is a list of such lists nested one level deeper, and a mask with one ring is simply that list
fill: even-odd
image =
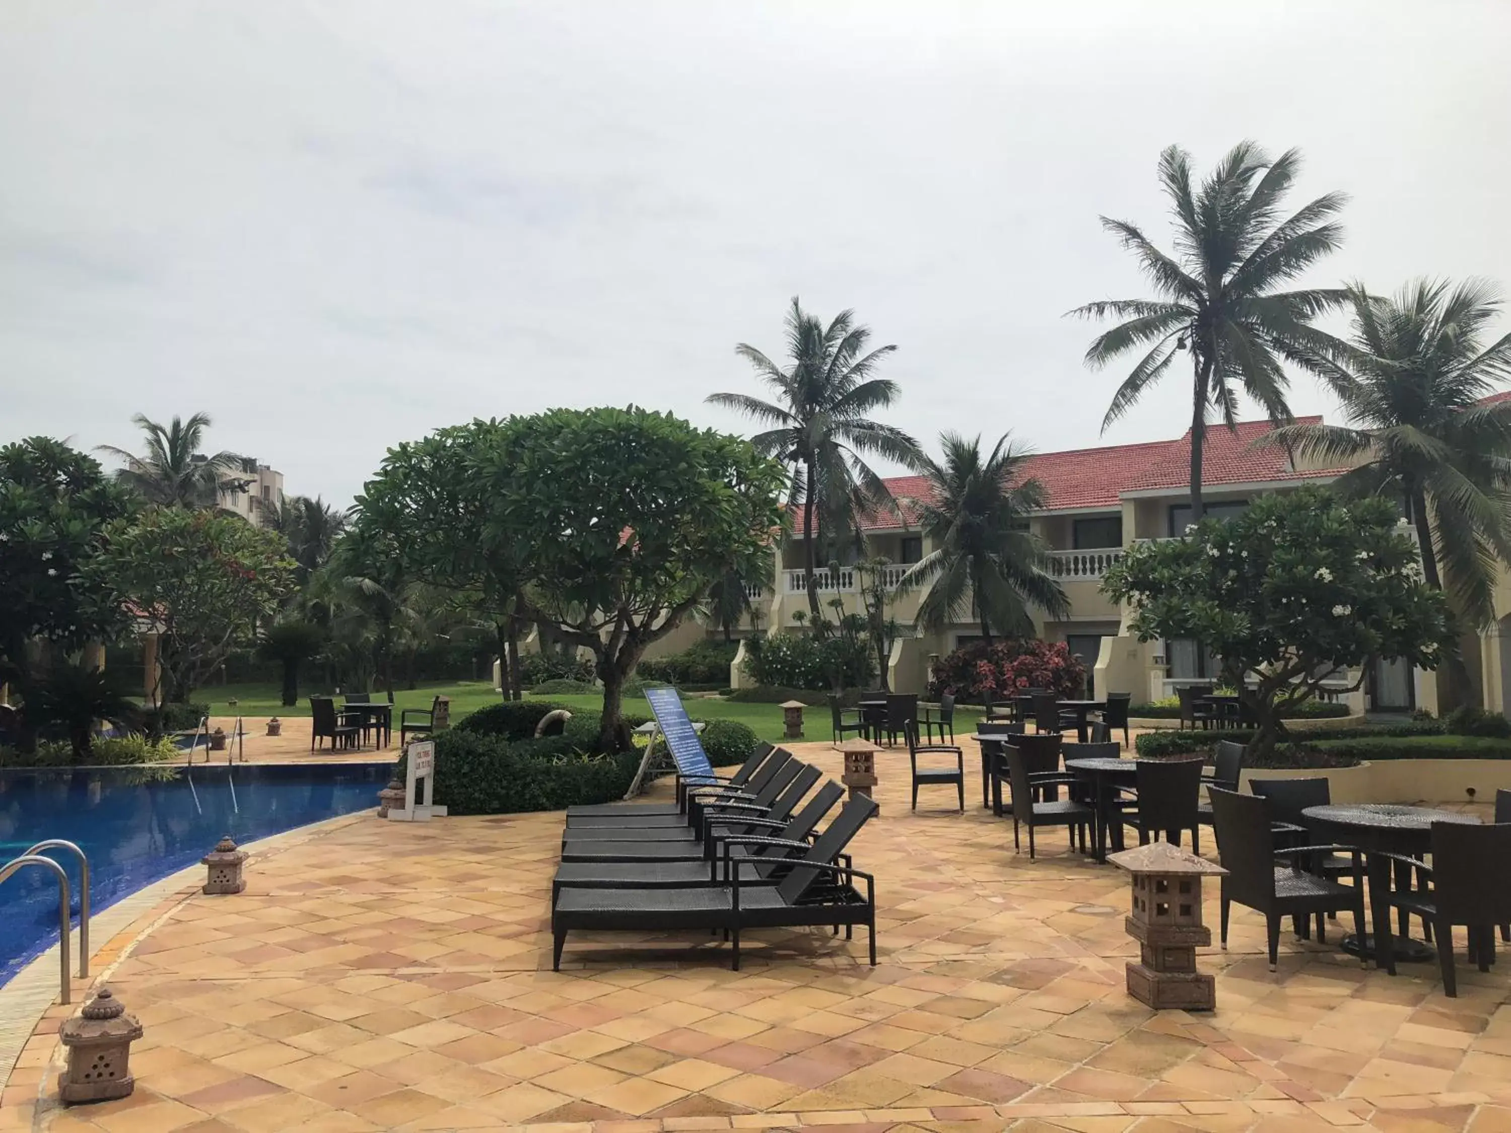
[{"label": "black armchair facing right at nearest round table, nearest the big lantern", "polygon": [[[1352,846],[1275,846],[1269,807],[1257,795],[1212,789],[1212,829],[1218,840],[1222,878],[1222,917],[1219,941],[1227,947],[1228,912],[1239,905],[1262,912],[1269,940],[1269,970],[1280,964],[1280,920],[1293,917],[1307,923],[1313,912],[1354,912],[1354,932],[1364,938],[1364,860]],[[1352,885],[1340,885],[1302,869],[1318,854],[1351,854]],[[1277,864],[1289,863],[1289,864]],[[1321,922],[1318,922],[1321,925]]]}]

